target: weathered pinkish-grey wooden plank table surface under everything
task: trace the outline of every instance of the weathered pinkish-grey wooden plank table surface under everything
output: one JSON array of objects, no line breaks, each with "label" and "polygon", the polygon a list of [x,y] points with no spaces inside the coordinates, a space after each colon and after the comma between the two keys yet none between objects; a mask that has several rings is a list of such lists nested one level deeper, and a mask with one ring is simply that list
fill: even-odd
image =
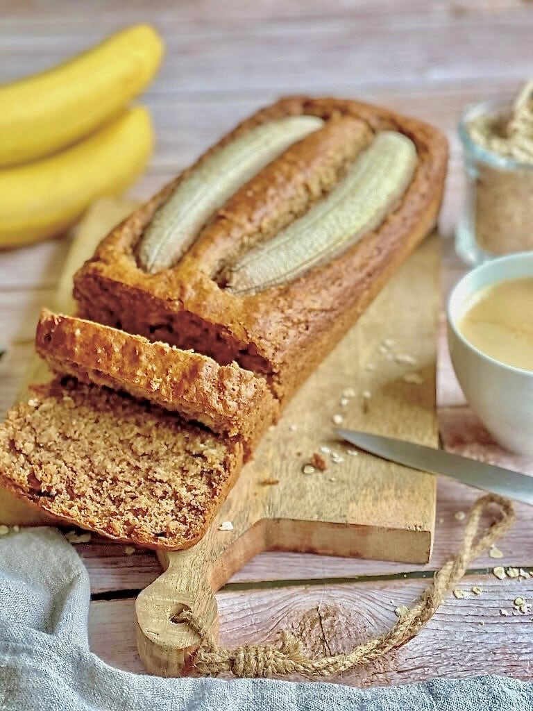
[{"label": "weathered pinkish-grey wooden plank table surface under everything", "polygon": [[[455,134],[468,102],[512,92],[532,71],[533,4],[519,0],[141,0],[90,4],[0,1],[0,82],[40,70],[128,23],[150,21],[166,40],[161,73],[142,99],[157,147],[132,194],[145,198],[242,117],[289,92],[382,103],[441,127],[451,141],[441,215],[443,292],[465,267],[453,252],[463,174]],[[14,400],[32,348],[38,309],[50,296],[67,240],[0,254],[0,410]],[[533,462],[505,454],[465,405],[451,372],[442,329],[438,363],[443,446],[533,474]],[[394,623],[424,577],[456,551],[476,493],[438,482],[434,555],[425,567],[266,553],[220,591],[226,643],[274,638],[291,629],[316,653],[346,650]],[[343,678],[388,685],[476,673],[533,678],[533,577],[500,581],[492,567],[533,568],[533,517],[517,506],[503,557],[478,560],[461,589],[419,636],[383,661]],[[143,672],[136,653],[134,599],[159,573],[151,552],[93,537],[77,546],[92,582],[92,650],[110,664]],[[511,571],[512,574],[512,571]],[[290,580],[288,579],[290,578]],[[480,595],[471,591],[474,585]],[[507,616],[500,609],[508,611]]]}]

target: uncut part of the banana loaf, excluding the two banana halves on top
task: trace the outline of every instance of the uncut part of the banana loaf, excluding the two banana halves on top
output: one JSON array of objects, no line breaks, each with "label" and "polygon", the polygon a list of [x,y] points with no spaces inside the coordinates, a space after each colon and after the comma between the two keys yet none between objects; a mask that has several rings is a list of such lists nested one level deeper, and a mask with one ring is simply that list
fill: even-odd
[{"label": "uncut part of the banana loaf, excluding the two banana halves on top", "polygon": [[[75,275],[80,316],[194,348],[221,365],[235,360],[264,375],[283,405],[434,228],[448,155],[443,134],[418,119],[357,101],[289,97],[246,119],[198,162],[259,124],[298,114],[320,117],[323,128],[239,188],[173,267],[149,273],[136,254],[156,210],[188,171],[113,230]],[[220,274],[235,255],[305,214],[342,179],[346,146],[384,130],[413,141],[417,166],[377,228],[282,286],[251,294],[225,288]]]}]

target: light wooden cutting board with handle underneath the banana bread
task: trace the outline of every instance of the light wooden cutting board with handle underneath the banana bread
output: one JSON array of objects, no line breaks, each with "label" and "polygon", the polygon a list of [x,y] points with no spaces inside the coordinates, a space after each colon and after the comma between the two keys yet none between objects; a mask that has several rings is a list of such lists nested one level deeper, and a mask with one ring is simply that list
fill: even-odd
[{"label": "light wooden cutting board with handle underneath the banana bread", "polygon": [[[61,280],[58,310],[69,308],[77,264],[130,209],[106,201],[87,216]],[[438,267],[434,235],[301,387],[244,467],[205,538],[187,551],[158,553],[165,572],[136,602],[139,653],[151,673],[181,675],[186,670],[199,638],[173,619],[188,608],[216,631],[215,592],[258,552],[429,560],[434,477],[367,454],[353,456],[332,429],[333,418],[340,415],[349,429],[438,446]],[[32,366],[31,380],[45,377],[42,366]],[[306,474],[303,467],[313,454],[323,456],[326,469]],[[0,521],[34,524],[50,519],[0,491]]]}]

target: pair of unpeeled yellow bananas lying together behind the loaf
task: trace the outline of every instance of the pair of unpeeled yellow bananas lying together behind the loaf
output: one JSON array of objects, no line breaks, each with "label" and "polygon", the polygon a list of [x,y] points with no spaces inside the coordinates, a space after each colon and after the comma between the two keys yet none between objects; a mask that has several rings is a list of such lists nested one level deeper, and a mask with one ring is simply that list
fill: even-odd
[{"label": "pair of unpeeled yellow bananas lying together behind the loaf", "polygon": [[126,28],[68,62],[0,86],[0,248],[58,235],[143,171],[153,132],[128,102],[158,70],[153,28]]}]

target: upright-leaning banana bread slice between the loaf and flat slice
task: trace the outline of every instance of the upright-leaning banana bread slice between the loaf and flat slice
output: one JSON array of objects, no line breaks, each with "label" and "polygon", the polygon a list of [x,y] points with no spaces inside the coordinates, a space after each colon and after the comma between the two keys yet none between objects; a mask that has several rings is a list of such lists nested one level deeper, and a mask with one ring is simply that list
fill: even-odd
[{"label": "upright-leaning banana bread slice between the loaf and flat slice", "polygon": [[48,309],[41,311],[36,349],[56,373],[179,412],[213,432],[239,437],[247,452],[279,410],[264,378],[236,363],[218,365],[193,351]]}]

